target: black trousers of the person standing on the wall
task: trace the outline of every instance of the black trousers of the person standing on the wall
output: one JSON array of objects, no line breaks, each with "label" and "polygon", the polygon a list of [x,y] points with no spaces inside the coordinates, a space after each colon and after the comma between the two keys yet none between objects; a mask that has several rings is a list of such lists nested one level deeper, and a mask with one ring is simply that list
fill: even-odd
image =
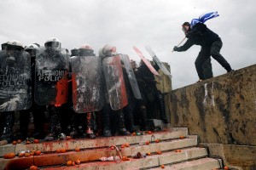
[{"label": "black trousers of the person standing on the wall", "polygon": [[216,59],[218,63],[226,69],[226,71],[231,70],[230,64],[226,61],[226,59],[224,59],[224,57],[221,54],[219,54],[219,51],[221,48],[222,48],[222,41],[220,38],[217,41],[212,42],[212,46],[210,48],[203,48],[203,47],[201,48],[200,53],[195,59],[195,69],[200,79],[202,80],[205,79],[202,65],[211,56],[213,59]]}]

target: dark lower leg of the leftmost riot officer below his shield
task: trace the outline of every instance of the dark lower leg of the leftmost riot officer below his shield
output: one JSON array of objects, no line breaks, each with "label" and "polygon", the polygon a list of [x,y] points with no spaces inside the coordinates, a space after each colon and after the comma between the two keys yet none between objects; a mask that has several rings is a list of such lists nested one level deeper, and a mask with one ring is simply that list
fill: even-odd
[{"label": "dark lower leg of the leftmost riot officer below his shield", "polygon": [[7,140],[8,142],[11,142],[13,137],[12,127],[14,121],[14,114],[13,112],[5,112],[4,114],[2,113],[2,116],[4,116],[4,121],[1,140]]}]

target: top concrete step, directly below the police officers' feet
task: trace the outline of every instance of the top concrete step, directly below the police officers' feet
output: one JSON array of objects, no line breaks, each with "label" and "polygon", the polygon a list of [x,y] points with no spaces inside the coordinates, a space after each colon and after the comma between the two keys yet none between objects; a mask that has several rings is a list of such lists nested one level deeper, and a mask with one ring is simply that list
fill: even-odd
[{"label": "top concrete step, directly below the police officers' feet", "polygon": [[188,136],[188,128],[177,127],[167,129],[166,132],[154,132],[152,134],[144,134],[141,136],[114,136],[114,137],[100,137],[97,139],[70,139],[60,141],[41,142],[39,144],[6,144],[0,146],[0,156],[5,153],[15,152],[19,153],[20,150],[41,150],[42,152],[54,152],[60,148],[66,150],[74,150],[75,148],[100,148],[108,147],[110,145],[121,145],[125,143],[139,144],[142,141],[151,141],[154,139],[178,139],[180,136]]}]

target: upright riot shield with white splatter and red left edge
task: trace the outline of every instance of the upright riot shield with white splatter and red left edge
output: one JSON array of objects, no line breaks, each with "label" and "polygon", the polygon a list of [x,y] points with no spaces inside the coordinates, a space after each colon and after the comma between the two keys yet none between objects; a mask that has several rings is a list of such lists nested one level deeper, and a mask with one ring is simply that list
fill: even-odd
[{"label": "upright riot shield with white splatter and red left edge", "polygon": [[102,92],[102,60],[96,56],[74,56],[71,59],[73,110],[77,113],[100,111],[104,105]]}]

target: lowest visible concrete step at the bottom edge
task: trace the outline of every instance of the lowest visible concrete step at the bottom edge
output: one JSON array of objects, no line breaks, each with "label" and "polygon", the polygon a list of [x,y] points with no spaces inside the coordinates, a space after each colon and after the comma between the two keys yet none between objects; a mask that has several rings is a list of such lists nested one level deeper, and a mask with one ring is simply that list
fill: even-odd
[{"label": "lowest visible concrete step at the bottom edge", "polygon": [[[173,165],[165,165],[165,169],[169,170],[212,170],[220,168],[221,160],[205,157],[198,160],[183,161]],[[162,169],[161,167],[151,168],[153,170]]]}]

